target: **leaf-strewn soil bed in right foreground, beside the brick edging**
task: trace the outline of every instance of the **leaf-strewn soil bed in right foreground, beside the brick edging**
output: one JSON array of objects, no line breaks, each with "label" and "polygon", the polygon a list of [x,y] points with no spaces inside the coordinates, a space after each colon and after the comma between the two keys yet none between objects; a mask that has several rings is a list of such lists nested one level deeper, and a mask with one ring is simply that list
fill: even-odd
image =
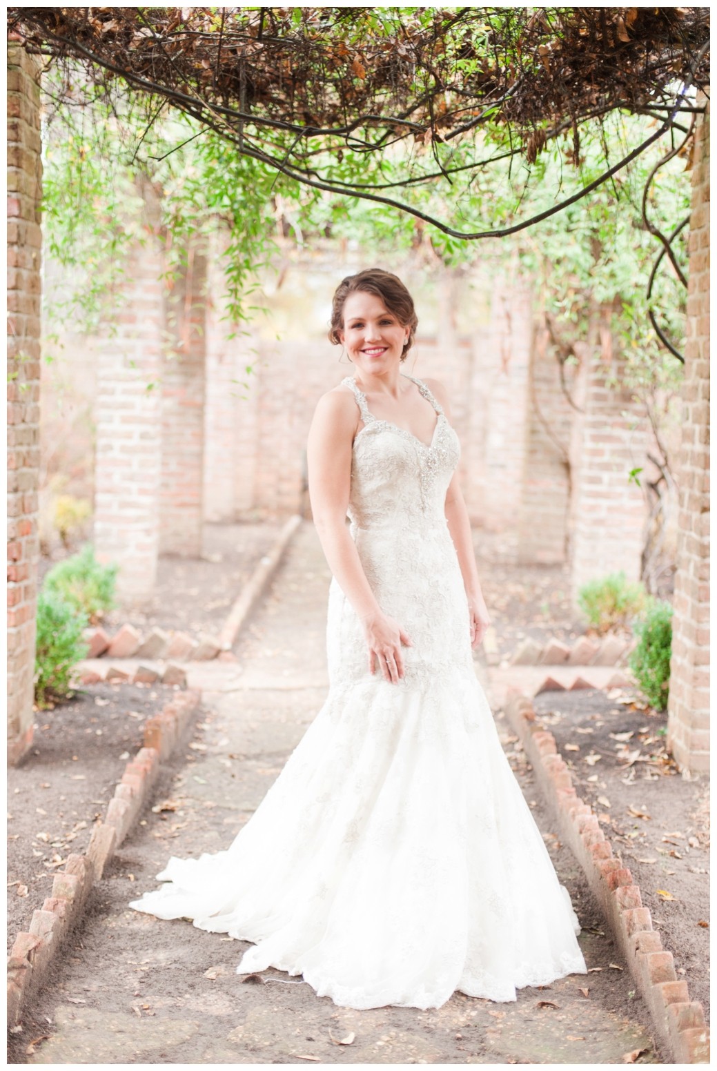
[{"label": "leaf-strewn soil bed in right foreground, beside the brick edging", "polygon": [[664,748],[667,714],[637,691],[543,692],[534,706],[708,1017],[708,778],[677,772]]}]

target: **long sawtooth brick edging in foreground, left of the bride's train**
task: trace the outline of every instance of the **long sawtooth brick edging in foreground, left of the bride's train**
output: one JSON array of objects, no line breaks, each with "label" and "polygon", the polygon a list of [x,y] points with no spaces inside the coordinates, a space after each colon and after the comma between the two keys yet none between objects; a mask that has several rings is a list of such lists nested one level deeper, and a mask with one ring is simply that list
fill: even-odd
[{"label": "long sawtooth brick edging in foreground, left of the bride's train", "polygon": [[148,802],[160,764],[181,740],[200,698],[197,690],[179,692],[145,722],[144,746],[124,767],[105,819],[93,827],[86,853],[68,856],[64,871],[55,875],[51,894],[42,909],[32,912],[29,932],[15,938],[8,960],[9,1027],[17,1025],[28,999],[47,978],[56,953],[83,916],[94,881]]}]

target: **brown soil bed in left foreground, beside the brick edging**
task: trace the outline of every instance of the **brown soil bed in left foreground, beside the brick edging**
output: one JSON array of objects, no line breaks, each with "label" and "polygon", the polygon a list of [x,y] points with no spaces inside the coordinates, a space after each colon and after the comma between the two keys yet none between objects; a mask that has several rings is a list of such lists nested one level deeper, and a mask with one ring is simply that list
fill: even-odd
[{"label": "brown soil bed in left foreground, beside the brick edging", "polygon": [[35,711],[32,748],[8,770],[9,950],[68,855],[87,848],[125,763],[141,748],[146,719],[173,694],[164,685],[100,682]]}]

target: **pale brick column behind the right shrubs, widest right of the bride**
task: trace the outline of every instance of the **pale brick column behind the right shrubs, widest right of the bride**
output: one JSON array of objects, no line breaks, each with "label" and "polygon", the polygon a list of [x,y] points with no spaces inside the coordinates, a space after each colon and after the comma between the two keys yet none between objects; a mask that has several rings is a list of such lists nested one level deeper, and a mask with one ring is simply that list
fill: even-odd
[{"label": "pale brick column behind the right shrubs, widest right of the bride", "polygon": [[[586,580],[624,570],[640,577],[646,506],[629,482],[645,465],[645,413],[624,389],[623,362],[613,350],[610,310],[596,313],[597,338],[585,347],[584,414],[576,421],[571,592]],[[614,380],[613,383],[611,380]]]}]

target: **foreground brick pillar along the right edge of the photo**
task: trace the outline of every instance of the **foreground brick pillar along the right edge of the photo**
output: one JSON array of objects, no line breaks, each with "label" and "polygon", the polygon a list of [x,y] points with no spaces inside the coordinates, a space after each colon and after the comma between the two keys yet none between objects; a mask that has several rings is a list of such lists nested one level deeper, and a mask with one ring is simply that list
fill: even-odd
[{"label": "foreground brick pillar along the right edge of the photo", "polygon": [[708,115],[698,121],[692,163],[687,344],[682,397],[668,746],[683,769],[697,771],[709,769]]}]

